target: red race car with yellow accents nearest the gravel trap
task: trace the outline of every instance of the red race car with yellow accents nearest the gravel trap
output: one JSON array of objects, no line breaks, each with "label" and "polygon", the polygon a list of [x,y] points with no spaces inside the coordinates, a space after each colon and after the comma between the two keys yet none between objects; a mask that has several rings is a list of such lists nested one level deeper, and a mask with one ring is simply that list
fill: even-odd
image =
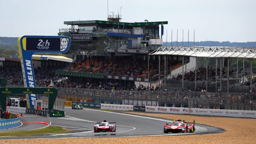
[{"label": "red race car with yellow accents nearest the gravel trap", "polygon": [[164,124],[164,133],[168,132],[195,132],[195,120],[193,123],[188,124],[185,120],[181,121],[180,119],[175,121],[171,125]]}]

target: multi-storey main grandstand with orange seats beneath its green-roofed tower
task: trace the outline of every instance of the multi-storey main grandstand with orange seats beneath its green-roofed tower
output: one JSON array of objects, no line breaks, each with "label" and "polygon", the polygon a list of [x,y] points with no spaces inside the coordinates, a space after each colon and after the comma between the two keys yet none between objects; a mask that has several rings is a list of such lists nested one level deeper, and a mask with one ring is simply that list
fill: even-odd
[{"label": "multi-storey main grandstand with orange seats beneath its green-roofed tower", "polygon": [[[64,21],[71,28],[60,29],[58,35],[71,37],[67,53],[73,55],[75,63],[63,69],[65,73],[62,74],[87,78],[101,78],[104,75],[99,81],[119,83],[120,88],[132,88],[134,84],[146,85],[149,69],[150,80],[158,81],[155,58],[151,58],[150,68],[147,58],[150,52],[162,46],[163,28],[168,21],[130,23],[121,22],[121,18],[121,15],[109,15],[108,21]],[[176,68],[171,63],[169,65]]]}]

